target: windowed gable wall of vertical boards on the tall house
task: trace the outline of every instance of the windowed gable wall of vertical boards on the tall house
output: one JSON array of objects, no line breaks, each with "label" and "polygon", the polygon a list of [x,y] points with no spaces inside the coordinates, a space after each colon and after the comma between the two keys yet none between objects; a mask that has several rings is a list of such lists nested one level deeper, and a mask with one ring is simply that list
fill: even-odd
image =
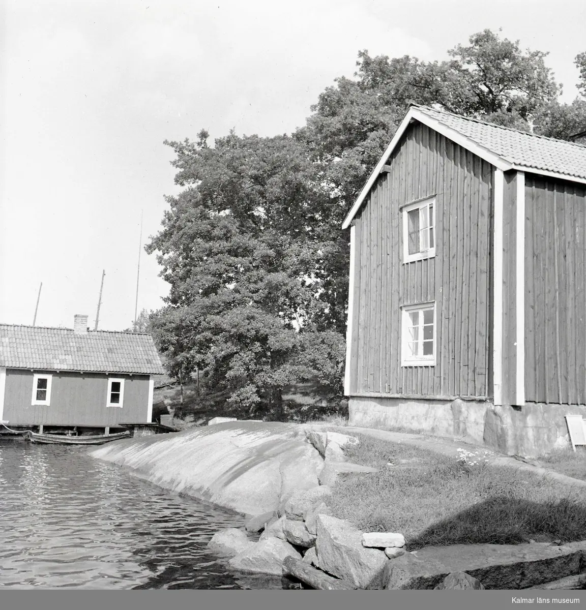
[{"label": "windowed gable wall of vertical boards on the tall house", "polygon": [[[355,218],[350,393],[478,396],[488,387],[491,165],[413,124]],[[436,196],[432,259],[403,264],[400,207]],[[401,307],[436,303],[436,364],[402,367]]]}]

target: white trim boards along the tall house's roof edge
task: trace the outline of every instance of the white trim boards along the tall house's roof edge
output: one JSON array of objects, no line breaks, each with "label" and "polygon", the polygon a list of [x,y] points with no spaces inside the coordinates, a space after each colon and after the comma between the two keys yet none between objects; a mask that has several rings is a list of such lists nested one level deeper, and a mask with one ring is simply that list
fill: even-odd
[{"label": "white trim boards along the tall house's roof edge", "polygon": [[554,171],[540,170],[538,168],[532,167],[524,167],[523,165],[517,165],[515,163],[512,163],[510,160],[505,159],[504,157],[501,157],[490,149],[485,148],[477,142],[474,142],[474,140],[471,140],[471,138],[466,137],[459,131],[452,129],[452,127],[447,127],[440,121],[430,117],[427,113],[423,112],[418,107],[411,106],[410,109],[407,111],[405,118],[403,118],[401,124],[399,125],[399,127],[397,127],[397,131],[392,137],[391,143],[389,143],[389,145],[386,147],[386,150],[385,152],[383,152],[383,156],[380,157],[377,166],[374,168],[374,170],[372,170],[369,179],[366,181],[366,184],[361,190],[360,195],[358,195],[358,197],[356,198],[356,201],[350,209],[350,212],[348,212],[348,215],[345,217],[344,222],[342,223],[342,229],[347,229],[350,226],[350,223],[356,216],[356,213],[358,213],[358,210],[360,210],[364,199],[366,199],[366,196],[370,192],[372,185],[378,178],[378,174],[383,171],[383,167],[386,165],[386,162],[388,161],[391,152],[394,151],[397,144],[399,143],[400,138],[405,133],[405,130],[413,120],[417,120],[420,123],[427,125],[431,129],[434,129],[436,132],[438,132],[438,134],[445,135],[447,138],[449,138],[449,140],[452,140],[452,142],[463,146],[463,148],[466,148],[470,152],[473,152],[474,154],[479,156],[480,159],[488,161],[489,163],[494,165],[495,168],[501,171],[517,170],[538,174],[539,176],[548,176],[549,178],[559,178],[570,182],[579,182],[581,184],[586,184],[586,178],[577,178],[576,176],[569,176],[568,174],[560,174]]}]

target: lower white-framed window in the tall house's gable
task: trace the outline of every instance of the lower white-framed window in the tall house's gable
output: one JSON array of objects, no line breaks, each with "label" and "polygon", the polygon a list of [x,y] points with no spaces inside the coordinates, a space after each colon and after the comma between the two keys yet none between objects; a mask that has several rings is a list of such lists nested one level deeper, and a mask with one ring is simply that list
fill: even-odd
[{"label": "lower white-framed window in the tall house's gable", "polygon": [[401,365],[435,365],[435,303],[405,306],[402,317]]}]

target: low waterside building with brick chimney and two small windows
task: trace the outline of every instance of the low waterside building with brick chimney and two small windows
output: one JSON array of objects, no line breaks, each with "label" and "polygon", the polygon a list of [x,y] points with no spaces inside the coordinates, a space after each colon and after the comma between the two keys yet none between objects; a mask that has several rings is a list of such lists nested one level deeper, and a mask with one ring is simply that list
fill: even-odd
[{"label": "low waterside building with brick chimney and two small windows", "polygon": [[0,325],[0,421],[10,428],[109,429],[150,423],[154,375],[164,370],[150,335]]}]

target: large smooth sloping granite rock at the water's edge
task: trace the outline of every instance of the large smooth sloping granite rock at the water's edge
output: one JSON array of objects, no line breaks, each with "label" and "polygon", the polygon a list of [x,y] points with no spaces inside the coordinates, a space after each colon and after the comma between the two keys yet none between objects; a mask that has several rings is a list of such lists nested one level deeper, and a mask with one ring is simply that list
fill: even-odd
[{"label": "large smooth sloping granite rock at the water's edge", "polygon": [[319,452],[295,424],[226,422],[109,443],[91,455],[173,493],[247,515],[277,509],[286,493],[319,484]]}]

